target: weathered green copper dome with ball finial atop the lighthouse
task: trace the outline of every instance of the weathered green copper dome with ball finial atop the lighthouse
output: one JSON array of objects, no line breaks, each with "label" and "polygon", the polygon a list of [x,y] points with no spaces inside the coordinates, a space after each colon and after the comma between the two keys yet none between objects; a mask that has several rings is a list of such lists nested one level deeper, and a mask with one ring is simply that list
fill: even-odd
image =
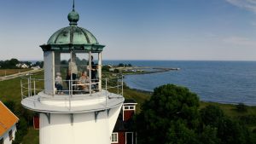
[{"label": "weathered green copper dome with ball finial atop the lighthouse", "polygon": [[104,45],[100,45],[91,32],[77,26],[79,13],[74,10],[74,5],[73,10],[67,15],[67,19],[69,20],[69,26],[55,32],[49,37],[47,44],[40,46],[44,51],[102,51]]}]

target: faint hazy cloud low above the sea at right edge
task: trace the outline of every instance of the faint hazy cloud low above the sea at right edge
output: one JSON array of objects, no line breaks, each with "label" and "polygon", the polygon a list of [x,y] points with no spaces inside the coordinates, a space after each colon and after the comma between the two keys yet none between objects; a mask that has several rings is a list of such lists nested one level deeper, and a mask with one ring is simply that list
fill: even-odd
[{"label": "faint hazy cloud low above the sea at right edge", "polygon": [[246,46],[246,47],[256,47],[256,42],[247,38],[247,37],[227,37],[224,40],[224,43]]}]

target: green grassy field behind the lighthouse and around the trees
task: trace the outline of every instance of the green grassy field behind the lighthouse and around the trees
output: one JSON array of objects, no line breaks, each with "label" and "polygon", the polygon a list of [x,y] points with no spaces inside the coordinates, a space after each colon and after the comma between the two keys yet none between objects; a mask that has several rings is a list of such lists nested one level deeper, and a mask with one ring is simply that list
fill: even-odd
[{"label": "green grassy field behind the lighthouse and around the trees", "polygon": [[[43,78],[43,72],[38,72],[38,78]],[[129,89],[124,87],[124,96],[128,99],[134,99],[137,101],[137,112],[140,112],[140,107],[142,106],[143,101],[150,98],[150,93],[143,91],[138,91],[135,89]],[[0,82],[0,101],[15,101],[16,107],[20,107],[20,78],[14,78],[6,81]],[[224,113],[230,118],[248,118],[251,123],[248,123],[247,126],[253,130],[256,128],[256,107],[246,107],[246,112],[237,112],[235,105],[230,104],[219,104],[212,102],[203,102],[201,101],[201,108],[206,107],[207,105],[217,105],[220,107]],[[33,130],[32,125],[30,125],[27,135],[23,138],[24,144],[38,144],[38,130]]]}]

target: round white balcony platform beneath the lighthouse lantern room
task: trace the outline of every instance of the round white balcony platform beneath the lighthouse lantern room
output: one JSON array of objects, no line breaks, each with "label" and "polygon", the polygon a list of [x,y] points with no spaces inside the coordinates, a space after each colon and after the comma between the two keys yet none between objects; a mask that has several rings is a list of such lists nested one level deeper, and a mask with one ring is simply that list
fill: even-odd
[{"label": "round white balcony platform beneath the lighthouse lantern room", "polygon": [[79,113],[95,112],[117,107],[125,101],[122,95],[106,90],[93,94],[46,95],[44,92],[26,97],[21,101],[23,107],[36,112]]}]

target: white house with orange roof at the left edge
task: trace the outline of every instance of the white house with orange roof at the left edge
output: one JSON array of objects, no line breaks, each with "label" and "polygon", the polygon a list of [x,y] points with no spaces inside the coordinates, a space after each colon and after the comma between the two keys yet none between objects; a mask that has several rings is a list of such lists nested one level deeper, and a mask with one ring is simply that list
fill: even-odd
[{"label": "white house with orange roof at the left edge", "polygon": [[19,118],[0,101],[0,144],[11,144],[15,140]]}]

